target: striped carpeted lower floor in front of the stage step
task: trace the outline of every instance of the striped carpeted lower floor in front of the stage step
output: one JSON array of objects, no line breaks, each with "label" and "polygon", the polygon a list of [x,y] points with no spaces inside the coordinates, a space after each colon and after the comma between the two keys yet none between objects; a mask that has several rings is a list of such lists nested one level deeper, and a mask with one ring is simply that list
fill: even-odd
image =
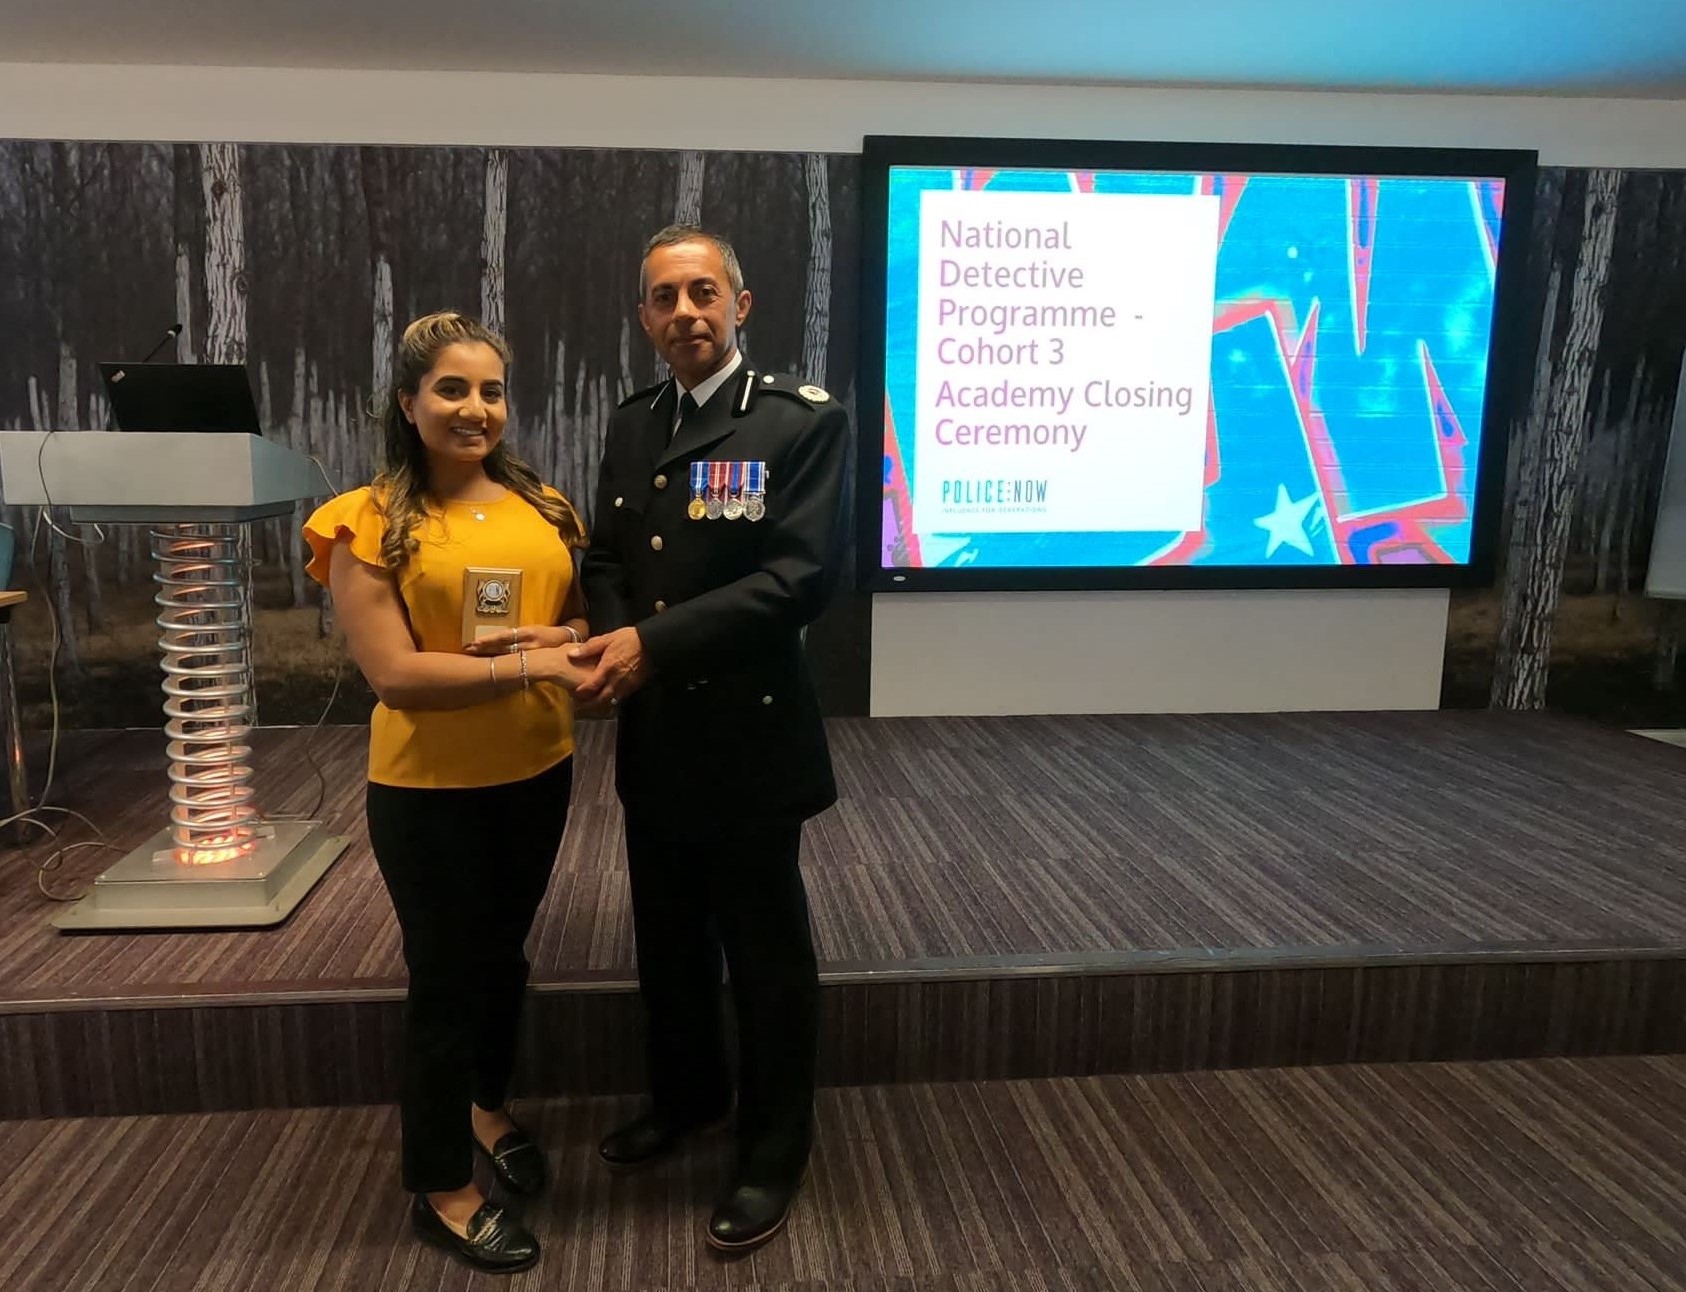
[{"label": "striped carpeted lower floor in front of the stage step", "polygon": [[0,1123],[7,1292],[1679,1292],[1686,1059],[821,1091],[787,1233],[701,1223],[722,1144],[600,1169],[615,1100],[523,1110],[543,1262],[411,1241],[388,1108]]}]

